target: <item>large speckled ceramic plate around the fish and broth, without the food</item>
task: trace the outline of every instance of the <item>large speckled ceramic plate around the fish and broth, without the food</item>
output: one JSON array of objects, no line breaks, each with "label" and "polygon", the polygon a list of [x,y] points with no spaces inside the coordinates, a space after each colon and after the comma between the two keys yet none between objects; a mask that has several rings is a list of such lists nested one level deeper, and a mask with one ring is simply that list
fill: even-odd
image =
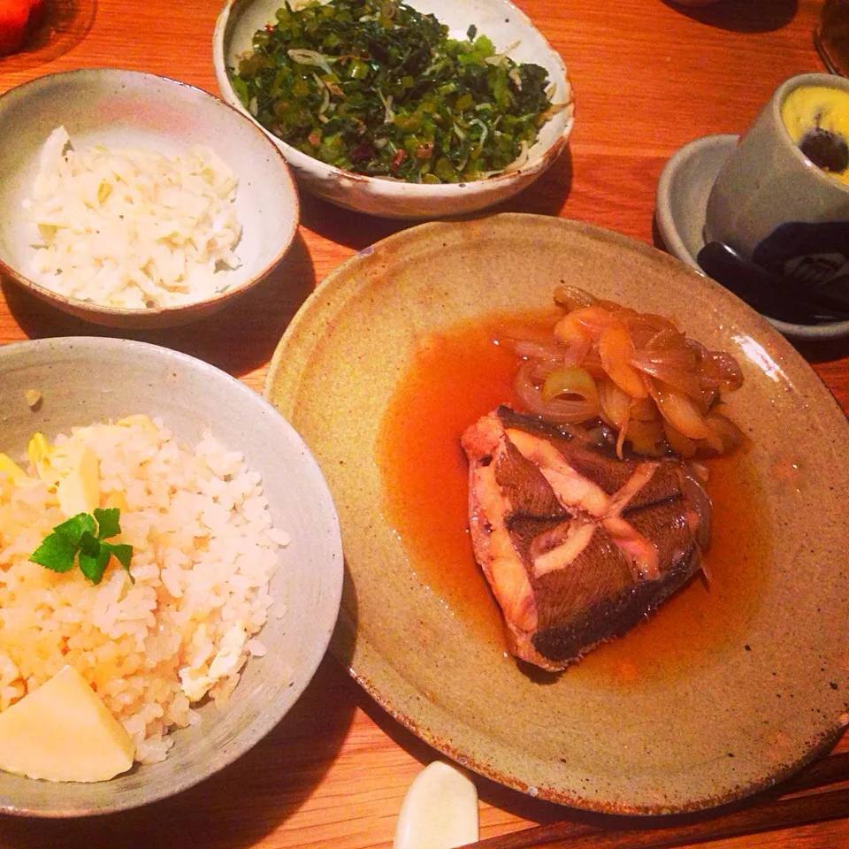
[{"label": "large speckled ceramic plate around the fish and broth, without the food", "polygon": [[[757,585],[683,666],[659,645],[657,669],[644,663],[636,677],[627,664],[602,674],[593,655],[586,669],[598,674],[582,663],[528,675],[417,577],[384,516],[381,418],[422,340],[493,310],[545,308],[561,281],[669,315],[745,373],[731,411],[752,447],[721,512],[733,519],[756,501],[730,550]],[[557,218],[418,226],[325,279],[281,340],[266,396],[310,445],[339,510],[346,585],[333,654],[392,715],[479,773],[598,811],[694,810],[775,783],[849,723],[845,417],[767,322],[677,260]],[[682,627],[699,648],[711,622]]]}]

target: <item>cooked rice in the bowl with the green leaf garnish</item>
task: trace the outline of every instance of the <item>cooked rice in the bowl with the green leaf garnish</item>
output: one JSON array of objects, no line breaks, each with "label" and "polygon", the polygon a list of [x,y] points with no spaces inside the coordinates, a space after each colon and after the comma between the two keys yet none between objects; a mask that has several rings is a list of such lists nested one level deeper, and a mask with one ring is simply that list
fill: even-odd
[{"label": "cooked rice in the bowl with the green leaf garnish", "polygon": [[223,705],[249,655],[265,654],[256,634],[287,534],[272,526],[259,475],[209,435],[186,447],[162,422],[129,417],[55,444],[96,453],[101,506],[121,505],[110,541],[133,546],[135,583],[114,559],[100,585],[29,562],[65,515],[34,467],[17,481],[0,471],[0,710],[70,663],[123,723],[136,760],[162,761],[168,730],[198,721],[191,705]]}]

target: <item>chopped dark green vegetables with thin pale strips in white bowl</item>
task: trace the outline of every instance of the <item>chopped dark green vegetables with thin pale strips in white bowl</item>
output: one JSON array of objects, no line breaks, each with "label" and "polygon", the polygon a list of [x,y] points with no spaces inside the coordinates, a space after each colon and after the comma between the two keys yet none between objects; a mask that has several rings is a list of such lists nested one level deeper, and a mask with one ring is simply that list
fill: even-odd
[{"label": "chopped dark green vegetables with thin pale strips in white bowl", "polygon": [[256,119],[294,148],[346,171],[415,183],[503,171],[562,107],[539,65],[496,54],[470,26],[464,41],[401,0],[331,0],[293,10],[254,35],[230,68]]}]

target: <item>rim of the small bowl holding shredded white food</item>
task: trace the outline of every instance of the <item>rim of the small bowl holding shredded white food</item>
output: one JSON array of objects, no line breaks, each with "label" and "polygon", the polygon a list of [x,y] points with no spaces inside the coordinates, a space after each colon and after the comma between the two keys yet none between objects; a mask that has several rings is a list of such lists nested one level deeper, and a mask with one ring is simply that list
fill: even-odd
[{"label": "rim of the small bowl holding shredded white food", "polygon": [[[206,99],[206,103],[209,103],[213,109],[218,109],[219,107],[223,107],[226,110],[232,111],[236,118],[240,121],[244,121],[245,115],[238,109],[233,108],[230,103],[226,103],[219,97],[211,94],[209,91],[206,91],[203,88],[198,88],[197,86],[193,86],[191,83],[183,82],[182,80],[175,80],[173,77],[164,76],[163,74],[158,73],[149,73],[147,71],[134,71],[129,68],[120,68],[117,66],[112,67],[103,67],[103,68],[74,68],[69,71],[57,71],[55,73],[44,74],[41,77],[35,77],[33,80],[27,80],[27,82],[20,83],[20,85],[10,88],[8,91],[5,91],[4,94],[0,95],[0,106],[3,105],[4,99],[10,96],[14,97],[26,97],[29,95],[31,91],[37,90],[39,88],[49,86],[53,80],[57,80],[59,78],[65,79],[82,79],[85,77],[110,77],[112,74],[126,74],[127,76],[134,77],[136,79],[148,79],[148,80],[157,80],[159,82],[164,82],[166,86],[169,88],[174,86],[177,88],[186,89],[190,92],[191,96],[199,97],[202,101]],[[228,114],[228,112],[224,112],[224,114]],[[231,116],[232,117],[232,116]],[[256,122],[249,121],[248,122],[253,131],[257,132],[261,130]],[[218,307],[218,305],[223,304],[224,302],[230,300],[233,297],[238,297],[241,294],[247,292],[250,288],[256,286],[261,280],[267,277],[272,270],[283,260],[283,257],[287,255],[287,252],[292,247],[292,243],[294,242],[294,238],[298,232],[298,226],[301,222],[301,199],[298,195],[298,189],[295,185],[294,176],[292,175],[292,170],[287,163],[286,157],[283,156],[280,149],[275,145],[272,140],[269,138],[268,134],[264,132],[257,132],[258,135],[263,137],[263,142],[270,142],[269,147],[273,149],[275,154],[274,161],[278,162],[280,165],[280,172],[283,174],[283,179],[288,184],[288,189],[290,190],[290,194],[293,200],[293,216],[292,216],[292,226],[291,232],[288,233],[287,238],[281,241],[279,251],[272,259],[265,264],[264,268],[262,268],[259,272],[254,273],[250,279],[241,283],[240,286],[233,287],[227,289],[225,292],[220,292],[218,294],[214,294],[209,298],[203,298],[200,301],[192,301],[188,303],[175,304],[170,306],[162,306],[162,307],[117,307],[108,304],[99,304],[93,301],[87,301],[83,298],[76,298],[73,295],[61,294],[59,292],[54,291],[50,287],[46,287],[37,281],[28,278],[25,274],[19,272],[17,269],[13,268],[8,263],[4,262],[3,258],[0,257],[0,275],[5,274],[11,279],[15,280],[20,286],[30,289],[33,294],[37,295],[42,301],[46,302],[54,302],[60,303],[64,305],[66,309],[73,310],[77,315],[83,312],[91,312],[96,313],[101,316],[109,316],[116,319],[126,319],[126,318],[136,318],[136,317],[144,317],[154,319],[156,317],[168,317],[174,316],[179,313],[185,314],[185,310],[197,310],[200,308],[208,308],[208,307]]]}]

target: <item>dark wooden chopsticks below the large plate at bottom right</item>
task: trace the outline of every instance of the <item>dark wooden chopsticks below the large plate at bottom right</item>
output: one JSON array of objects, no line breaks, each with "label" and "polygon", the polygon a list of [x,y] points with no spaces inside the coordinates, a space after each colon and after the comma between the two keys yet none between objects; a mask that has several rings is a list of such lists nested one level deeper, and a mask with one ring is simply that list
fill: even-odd
[{"label": "dark wooden chopsticks below the large plate at bottom right", "polygon": [[[765,831],[789,829],[849,816],[849,788],[787,798],[849,781],[849,753],[823,758],[781,785],[782,798],[716,815],[652,828],[605,829],[581,822],[553,822],[470,844],[475,849],[671,849]],[[633,820],[630,820],[633,822]]]}]

